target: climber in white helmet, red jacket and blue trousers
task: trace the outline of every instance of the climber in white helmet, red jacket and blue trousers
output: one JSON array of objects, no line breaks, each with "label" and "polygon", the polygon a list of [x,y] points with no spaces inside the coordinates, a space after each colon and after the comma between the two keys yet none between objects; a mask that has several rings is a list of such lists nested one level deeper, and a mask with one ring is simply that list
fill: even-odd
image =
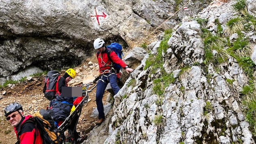
[{"label": "climber in white helmet, red jacket and blue trousers", "polygon": [[[117,56],[115,51],[111,51],[110,49],[107,49],[104,44],[105,42],[101,38],[97,38],[93,42],[94,49],[97,49],[98,51],[96,56],[98,59],[99,71],[100,71],[100,79],[98,80],[97,89],[96,89],[96,104],[99,112],[98,120],[95,122],[96,125],[100,125],[105,119],[102,97],[108,83],[110,83],[111,88],[114,91],[114,94],[117,94],[118,91],[120,90],[116,81],[117,73],[112,66],[111,60],[116,64],[119,64],[122,68],[124,68],[128,74],[129,72],[133,71],[132,68],[129,68],[124,63],[124,61]],[[108,54],[111,59],[108,58]]]}]

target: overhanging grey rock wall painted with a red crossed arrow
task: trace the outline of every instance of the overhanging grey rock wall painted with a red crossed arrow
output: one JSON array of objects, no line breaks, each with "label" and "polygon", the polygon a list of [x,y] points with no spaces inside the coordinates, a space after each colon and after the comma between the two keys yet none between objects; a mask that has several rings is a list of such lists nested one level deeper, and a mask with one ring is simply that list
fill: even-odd
[{"label": "overhanging grey rock wall painted with a red crossed arrow", "polygon": [[[203,2],[203,1],[202,1]],[[2,0],[0,3],[0,81],[15,79],[26,68],[56,70],[77,66],[95,53],[95,38],[121,42],[124,48],[153,40],[160,30],[173,28],[184,15],[172,0]],[[177,4],[180,6],[182,3]],[[37,69],[35,69],[37,71]],[[23,75],[29,76],[31,73]],[[33,73],[32,73],[33,74]]]}]

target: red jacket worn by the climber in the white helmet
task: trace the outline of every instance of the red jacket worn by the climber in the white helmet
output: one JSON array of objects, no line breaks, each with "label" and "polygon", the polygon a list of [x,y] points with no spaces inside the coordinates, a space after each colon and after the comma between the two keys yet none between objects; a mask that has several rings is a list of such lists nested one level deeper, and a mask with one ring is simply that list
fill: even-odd
[{"label": "red jacket worn by the climber in the white helmet", "polygon": [[104,70],[110,70],[111,68],[111,62],[115,62],[116,64],[119,64],[122,68],[125,69],[125,67],[127,66],[123,60],[121,60],[117,54],[115,53],[115,51],[111,51],[109,56],[112,59],[108,59],[108,54],[107,51],[110,51],[109,49],[106,48],[105,51],[103,51],[102,53],[97,53],[96,56],[98,58],[98,64],[100,67],[100,73],[102,73]]}]

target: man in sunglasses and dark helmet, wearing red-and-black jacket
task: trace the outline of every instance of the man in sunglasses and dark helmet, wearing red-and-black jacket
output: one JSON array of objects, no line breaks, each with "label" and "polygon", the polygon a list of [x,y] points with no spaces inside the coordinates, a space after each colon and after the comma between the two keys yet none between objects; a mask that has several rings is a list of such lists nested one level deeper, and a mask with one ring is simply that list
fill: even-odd
[{"label": "man in sunglasses and dark helmet, wearing red-and-black jacket", "polygon": [[40,136],[39,130],[36,129],[33,122],[26,122],[32,118],[32,115],[24,116],[22,106],[16,102],[9,104],[4,109],[4,116],[7,121],[13,126],[17,136],[16,144],[42,144],[43,139]]}]

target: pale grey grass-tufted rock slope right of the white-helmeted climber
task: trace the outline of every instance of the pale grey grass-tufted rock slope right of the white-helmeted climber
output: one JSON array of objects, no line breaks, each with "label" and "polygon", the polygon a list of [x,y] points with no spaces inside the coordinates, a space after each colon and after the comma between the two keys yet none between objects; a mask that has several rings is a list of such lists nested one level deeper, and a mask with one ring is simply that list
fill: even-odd
[{"label": "pale grey grass-tufted rock slope right of the white-helmeted climber", "polygon": [[[208,19],[206,29],[212,34],[217,34],[216,21],[219,21],[224,32],[227,21],[238,15],[232,7],[235,2],[212,2],[195,18]],[[254,31],[252,28],[243,33],[255,49]],[[86,142],[254,144],[252,129],[243,113],[244,96],[239,94],[249,78],[231,56],[218,65],[205,65],[202,34],[197,21],[184,19],[173,29],[166,50],[159,51],[166,40],[152,42],[148,46],[151,54],[145,56],[114,96],[113,109],[106,121],[93,129]],[[159,53],[164,71],[161,66],[154,67],[154,63],[148,66],[148,60],[159,59]],[[171,84],[164,86],[170,77]],[[231,85],[228,80],[232,80]],[[163,93],[159,94],[161,89]]]}]

